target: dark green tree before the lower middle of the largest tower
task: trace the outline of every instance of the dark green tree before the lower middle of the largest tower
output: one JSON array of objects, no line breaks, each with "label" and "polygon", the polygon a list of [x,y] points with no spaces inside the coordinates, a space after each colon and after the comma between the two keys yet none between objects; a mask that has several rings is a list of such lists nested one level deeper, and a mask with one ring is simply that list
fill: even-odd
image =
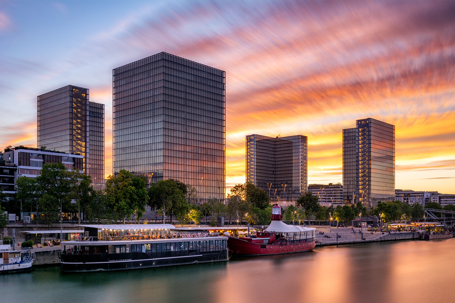
[{"label": "dark green tree before the lower middle of the largest tower", "polygon": [[156,184],[152,184],[148,191],[150,197],[148,205],[152,208],[161,209],[161,211],[164,205],[164,213],[169,214],[171,222],[174,215],[183,220],[189,212],[186,190],[187,186],[180,181],[174,179],[160,180]]}]

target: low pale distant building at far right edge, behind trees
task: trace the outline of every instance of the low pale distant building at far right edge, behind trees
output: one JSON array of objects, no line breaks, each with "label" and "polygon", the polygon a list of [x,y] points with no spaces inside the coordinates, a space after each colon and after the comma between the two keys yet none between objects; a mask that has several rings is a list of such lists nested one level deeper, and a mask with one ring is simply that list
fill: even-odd
[{"label": "low pale distant building at far right edge, behind trees", "polygon": [[395,200],[406,204],[419,203],[423,206],[435,202],[445,206],[455,204],[455,194],[440,194],[437,191],[414,191],[410,189],[395,189]]}]

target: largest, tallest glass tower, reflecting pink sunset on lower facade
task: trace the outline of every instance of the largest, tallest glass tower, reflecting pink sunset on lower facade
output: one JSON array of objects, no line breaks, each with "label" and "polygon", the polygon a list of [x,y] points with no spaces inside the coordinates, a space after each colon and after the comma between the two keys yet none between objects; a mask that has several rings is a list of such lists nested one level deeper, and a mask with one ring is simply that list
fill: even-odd
[{"label": "largest, tallest glass tower, reflecting pink sunset on lower facade", "polygon": [[165,52],[113,70],[113,164],[225,194],[225,72]]}]

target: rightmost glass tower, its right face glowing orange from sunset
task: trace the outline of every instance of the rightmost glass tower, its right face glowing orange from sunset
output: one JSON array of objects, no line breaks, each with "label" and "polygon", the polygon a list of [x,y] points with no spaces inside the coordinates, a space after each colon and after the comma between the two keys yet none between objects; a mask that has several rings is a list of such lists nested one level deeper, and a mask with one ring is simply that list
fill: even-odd
[{"label": "rightmost glass tower, its right face glowing orange from sunset", "polygon": [[344,202],[374,207],[395,197],[395,126],[376,119],[343,129]]}]

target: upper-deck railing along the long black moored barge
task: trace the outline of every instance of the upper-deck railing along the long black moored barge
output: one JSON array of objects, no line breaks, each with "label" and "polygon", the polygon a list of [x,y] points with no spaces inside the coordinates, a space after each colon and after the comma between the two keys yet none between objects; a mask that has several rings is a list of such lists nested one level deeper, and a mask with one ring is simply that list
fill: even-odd
[{"label": "upper-deck railing along the long black moored barge", "polygon": [[128,240],[155,240],[172,238],[205,238],[218,237],[219,233],[169,233],[163,235],[124,235],[100,237],[74,237],[74,241],[128,241]]}]

